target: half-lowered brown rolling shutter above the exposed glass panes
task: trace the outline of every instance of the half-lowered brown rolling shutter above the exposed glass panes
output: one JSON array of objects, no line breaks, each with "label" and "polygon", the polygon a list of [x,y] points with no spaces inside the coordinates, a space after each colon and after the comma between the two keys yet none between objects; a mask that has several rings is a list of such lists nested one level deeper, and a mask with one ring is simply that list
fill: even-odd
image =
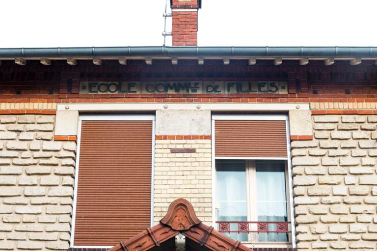
[{"label": "half-lowered brown rolling shutter above the exposed glass panes", "polygon": [[287,157],[285,121],[216,120],[216,157]]}]

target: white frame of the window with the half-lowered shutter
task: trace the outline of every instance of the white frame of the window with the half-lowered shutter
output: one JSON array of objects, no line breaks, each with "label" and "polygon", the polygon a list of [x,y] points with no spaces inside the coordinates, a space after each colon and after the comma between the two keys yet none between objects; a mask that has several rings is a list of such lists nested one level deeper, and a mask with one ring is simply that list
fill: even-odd
[{"label": "white frame of the window with the half-lowered shutter", "polygon": [[[255,120],[255,121],[285,121],[286,122],[286,137],[287,137],[287,157],[216,157],[215,156],[215,121],[216,120]],[[294,204],[293,204],[293,180],[292,180],[292,165],[291,165],[291,146],[290,146],[290,132],[289,132],[289,120],[288,115],[285,114],[213,114],[212,115],[212,225],[216,227],[216,159],[242,159],[246,160],[246,188],[247,188],[247,217],[248,221],[251,219],[251,215],[256,215],[256,210],[251,208],[250,203],[256,201],[255,196],[250,193],[250,178],[255,176],[255,160],[285,160],[286,166],[286,194],[287,194],[287,214],[288,221],[291,222],[291,234],[289,242],[258,242],[258,243],[245,243],[250,248],[256,247],[296,247],[296,235],[295,235],[295,216],[294,216]],[[251,166],[251,167],[250,167]],[[252,167],[253,166],[253,167]],[[254,170],[254,172],[250,171]],[[254,177],[255,178],[255,177]],[[249,234],[250,240],[250,234]]]}]

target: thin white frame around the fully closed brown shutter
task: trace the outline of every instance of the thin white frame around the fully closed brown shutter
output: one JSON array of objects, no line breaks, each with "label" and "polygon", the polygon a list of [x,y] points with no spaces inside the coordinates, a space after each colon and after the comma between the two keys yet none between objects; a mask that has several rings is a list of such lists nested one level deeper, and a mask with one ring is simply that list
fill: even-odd
[{"label": "thin white frame around the fully closed brown shutter", "polygon": [[154,221],[154,174],[155,174],[155,129],[156,116],[154,114],[82,114],[79,117],[79,127],[77,135],[77,151],[76,151],[76,168],[75,168],[75,186],[73,196],[73,210],[72,210],[72,226],[71,226],[71,241],[70,248],[96,248],[109,249],[112,246],[75,246],[75,223],[76,223],[76,208],[77,208],[77,188],[79,183],[79,166],[80,166],[80,143],[81,143],[81,123],[82,121],[152,121],[152,177],[151,177],[151,226]]}]

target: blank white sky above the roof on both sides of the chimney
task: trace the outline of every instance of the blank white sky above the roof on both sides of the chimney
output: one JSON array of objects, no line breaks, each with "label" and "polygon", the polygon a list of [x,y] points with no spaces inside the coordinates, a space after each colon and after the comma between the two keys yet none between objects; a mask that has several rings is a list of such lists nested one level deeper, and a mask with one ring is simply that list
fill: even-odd
[{"label": "blank white sky above the roof on both sides of the chimney", "polygon": [[[1,0],[0,48],[162,46],[165,2]],[[377,46],[376,13],[377,0],[202,0],[198,46]]]}]

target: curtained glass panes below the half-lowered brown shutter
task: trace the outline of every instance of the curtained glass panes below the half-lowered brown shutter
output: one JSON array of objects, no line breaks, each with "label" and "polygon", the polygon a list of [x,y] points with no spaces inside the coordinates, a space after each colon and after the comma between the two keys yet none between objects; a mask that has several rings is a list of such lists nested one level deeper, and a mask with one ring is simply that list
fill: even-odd
[{"label": "curtained glass panes below the half-lowered brown shutter", "polygon": [[[216,220],[219,222],[287,222],[286,162],[224,160],[216,166]],[[230,223],[237,231],[238,224]],[[257,224],[249,225],[251,230]],[[276,224],[269,224],[276,231]],[[288,242],[287,233],[227,233],[243,242]]]}]

